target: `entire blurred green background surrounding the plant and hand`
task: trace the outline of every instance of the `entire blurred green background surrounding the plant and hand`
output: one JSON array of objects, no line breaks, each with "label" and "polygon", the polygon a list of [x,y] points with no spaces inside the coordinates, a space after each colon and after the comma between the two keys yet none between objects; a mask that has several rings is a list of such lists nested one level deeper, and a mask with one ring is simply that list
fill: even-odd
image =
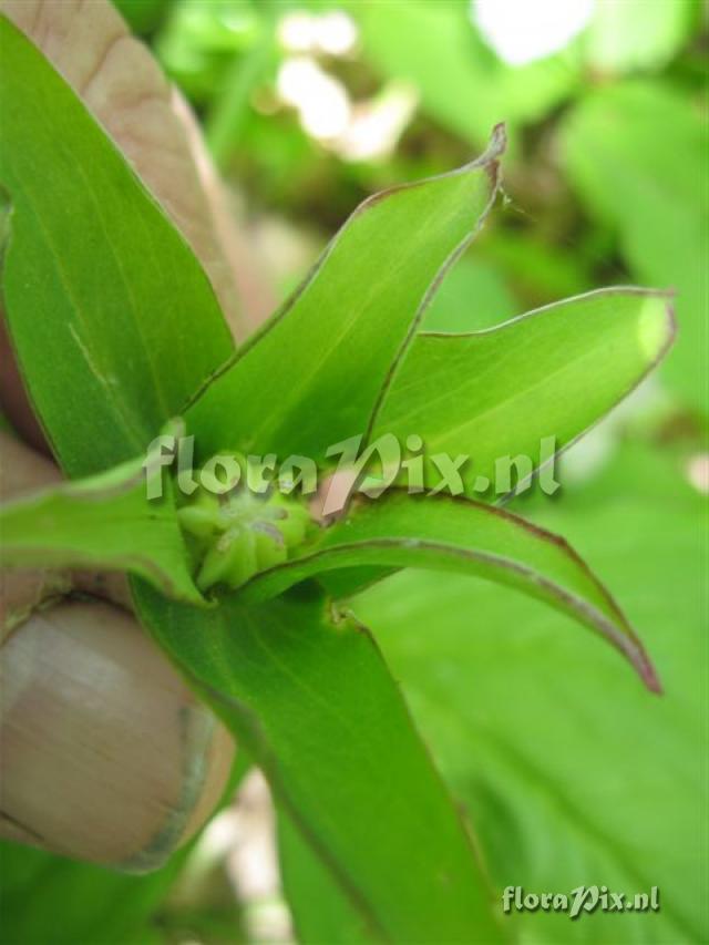
[{"label": "entire blurred green background surrounding the plant and hand", "polygon": [[[564,617],[482,582],[402,573],[356,609],[497,886],[660,887],[655,914],[569,923],[522,913],[511,920],[522,941],[706,942],[707,8],[116,6],[195,109],[279,297],[361,199],[464,164],[500,121],[510,135],[504,202],[444,281],[427,328],[487,328],[604,285],[677,291],[678,340],[660,372],[568,452],[553,501],[514,503],[607,581],[656,660],[662,699]],[[244,860],[248,824],[268,821],[258,803],[245,815],[248,790],[263,789],[245,790],[194,852],[152,876],[6,848],[3,941],[285,942],[294,918],[305,941],[360,941],[287,824],[290,911],[264,866],[268,851]]]}]

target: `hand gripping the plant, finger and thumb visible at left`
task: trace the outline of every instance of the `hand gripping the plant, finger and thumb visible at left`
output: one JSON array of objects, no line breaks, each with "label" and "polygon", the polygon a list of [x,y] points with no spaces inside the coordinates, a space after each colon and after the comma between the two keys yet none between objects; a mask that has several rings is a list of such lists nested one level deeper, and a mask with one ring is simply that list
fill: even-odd
[{"label": "hand gripping the plant, finger and thumb visible at left", "polygon": [[[148,51],[110,3],[14,0],[2,10],[122,147],[201,258],[235,335],[269,307],[216,198],[198,133]],[[228,257],[228,261],[227,258]],[[235,266],[235,263],[237,264]],[[60,473],[4,331],[2,497]],[[191,836],[224,790],[234,747],[130,612],[120,575],[2,576],[0,835],[124,869],[151,869]]]}]

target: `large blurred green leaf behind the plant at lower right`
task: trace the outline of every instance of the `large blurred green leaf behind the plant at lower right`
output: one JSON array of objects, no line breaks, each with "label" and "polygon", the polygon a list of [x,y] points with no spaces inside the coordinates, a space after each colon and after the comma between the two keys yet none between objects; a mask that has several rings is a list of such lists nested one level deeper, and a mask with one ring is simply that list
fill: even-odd
[{"label": "large blurred green leaf behind the plant at lower right", "polygon": [[593,499],[569,486],[540,503],[540,518],[613,581],[644,629],[664,698],[628,686],[608,648],[574,637],[568,618],[484,582],[404,572],[352,603],[475,818],[500,891],[659,887],[659,912],[598,908],[577,922],[511,913],[505,924],[522,941],[707,938],[707,503],[661,454],[629,459],[607,468]]}]

